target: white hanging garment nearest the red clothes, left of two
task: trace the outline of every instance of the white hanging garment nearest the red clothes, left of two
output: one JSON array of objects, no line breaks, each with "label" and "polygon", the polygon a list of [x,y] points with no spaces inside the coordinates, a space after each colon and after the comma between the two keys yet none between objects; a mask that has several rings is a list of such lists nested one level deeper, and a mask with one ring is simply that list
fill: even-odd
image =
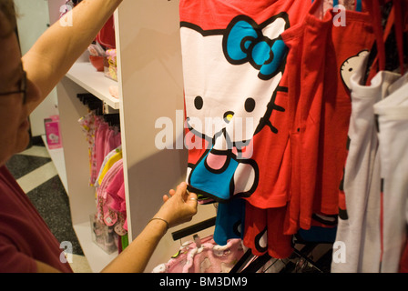
[{"label": "white hanging garment nearest the red clothes, left of two", "polygon": [[348,219],[339,217],[336,241],[345,246],[345,260],[334,259],[332,273],[379,272],[381,256],[381,179],[378,137],[373,105],[387,95],[400,76],[379,72],[371,85],[361,85],[365,62],[352,75],[350,146],[344,170],[344,194]]}]

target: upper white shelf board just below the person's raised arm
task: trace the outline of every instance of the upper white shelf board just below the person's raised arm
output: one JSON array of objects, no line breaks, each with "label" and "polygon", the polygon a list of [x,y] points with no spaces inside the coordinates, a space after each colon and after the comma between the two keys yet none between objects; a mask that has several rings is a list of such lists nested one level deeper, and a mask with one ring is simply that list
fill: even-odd
[{"label": "upper white shelf board just below the person's raised arm", "polygon": [[103,72],[97,72],[89,62],[76,62],[66,76],[113,109],[119,109],[119,100],[109,93],[109,87],[117,85],[117,82],[107,78]]}]

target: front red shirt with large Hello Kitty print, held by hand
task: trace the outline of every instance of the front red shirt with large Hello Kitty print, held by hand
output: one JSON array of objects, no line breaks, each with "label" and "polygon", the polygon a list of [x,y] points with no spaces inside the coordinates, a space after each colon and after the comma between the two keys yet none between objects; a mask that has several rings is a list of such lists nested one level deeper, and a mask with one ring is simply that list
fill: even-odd
[{"label": "front red shirt with large Hello Kitty print, held by hand", "polygon": [[[239,197],[261,208],[286,205],[289,115],[285,112],[287,87],[280,80],[288,51],[280,34],[301,23],[310,5],[305,1],[180,2],[187,135],[194,134],[191,146],[195,146],[189,146],[191,191],[225,207]],[[248,14],[240,15],[242,11]],[[203,16],[209,12],[211,17]],[[246,39],[250,40],[248,51],[241,50],[240,44]],[[272,54],[273,61],[262,65]],[[207,81],[201,82],[203,79]],[[207,125],[209,117],[225,118],[225,123],[215,131],[195,126],[197,120]],[[249,120],[254,120],[252,125]],[[199,147],[201,141],[204,147]],[[248,211],[247,207],[245,217]],[[223,223],[225,233],[235,233],[225,228],[228,221],[224,219],[219,217],[217,226]],[[262,224],[266,226],[266,221]],[[246,223],[241,231],[248,226]],[[259,233],[253,238],[255,235]]]}]

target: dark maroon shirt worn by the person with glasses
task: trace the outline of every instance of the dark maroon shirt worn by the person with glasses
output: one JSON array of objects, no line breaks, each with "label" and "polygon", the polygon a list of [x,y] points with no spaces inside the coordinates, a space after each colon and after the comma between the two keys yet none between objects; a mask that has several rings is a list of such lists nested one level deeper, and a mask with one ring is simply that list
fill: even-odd
[{"label": "dark maroon shirt worn by the person with glasses", "polygon": [[5,166],[0,167],[0,273],[35,273],[36,261],[72,273],[64,248]]}]

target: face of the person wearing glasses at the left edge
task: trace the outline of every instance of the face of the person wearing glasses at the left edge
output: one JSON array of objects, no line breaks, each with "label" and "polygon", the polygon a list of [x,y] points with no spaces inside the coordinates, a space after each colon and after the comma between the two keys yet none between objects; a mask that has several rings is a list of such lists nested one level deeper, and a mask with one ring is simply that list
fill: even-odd
[{"label": "face of the person wearing glasses at the left edge", "polygon": [[[0,18],[5,20],[1,12]],[[3,166],[11,156],[25,150],[28,145],[29,123],[26,104],[39,98],[39,91],[36,85],[27,80],[26,103],[23,93],[3,95],[20,90],[24,75],[15,34],[1,38],[0,55],[0,166]]]}]

